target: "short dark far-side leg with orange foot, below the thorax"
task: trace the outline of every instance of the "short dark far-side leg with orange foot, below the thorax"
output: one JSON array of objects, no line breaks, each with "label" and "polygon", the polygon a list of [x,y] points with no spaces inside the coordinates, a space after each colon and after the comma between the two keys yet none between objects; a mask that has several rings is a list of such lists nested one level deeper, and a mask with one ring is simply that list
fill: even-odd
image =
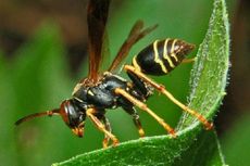
[{"label": "short dark far-side leg with orange foot, below the thorax", "polygon": [[135,107],[123,107],[129,115],[133,116],[133,122],[138,129],[140,138],[145,137],[145,130],[141,127],[140,116],[136,112]]}]

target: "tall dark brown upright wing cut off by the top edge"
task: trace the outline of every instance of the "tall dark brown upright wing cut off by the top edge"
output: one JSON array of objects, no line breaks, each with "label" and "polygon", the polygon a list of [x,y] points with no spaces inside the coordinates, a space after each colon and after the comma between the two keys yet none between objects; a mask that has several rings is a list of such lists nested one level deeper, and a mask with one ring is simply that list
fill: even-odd
[{"label": "tall dark brown upright wing cut off by the top edge", "polygon": [[87,10],[89,74],[88,79],[97,81],[102,60],[103,40],[110,0],[90,0]]}]

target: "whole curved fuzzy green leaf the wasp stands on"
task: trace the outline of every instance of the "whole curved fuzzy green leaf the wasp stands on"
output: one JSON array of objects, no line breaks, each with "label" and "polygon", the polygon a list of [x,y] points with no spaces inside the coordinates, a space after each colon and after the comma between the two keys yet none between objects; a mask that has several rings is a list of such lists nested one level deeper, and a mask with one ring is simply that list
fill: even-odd
[{"label": "whole curved fuzzy green leaf the wasp stands on", "polygon": [[[223,97],[228,71],[229,35],[224,0],[214,0],[210,26],[191,72],[189,106],[212,119]],[[215,131],[204,131],[184,115],[177,138],[149,137],[116,148],[77,155],[54,166],[76,165],[225,165]]]}]

